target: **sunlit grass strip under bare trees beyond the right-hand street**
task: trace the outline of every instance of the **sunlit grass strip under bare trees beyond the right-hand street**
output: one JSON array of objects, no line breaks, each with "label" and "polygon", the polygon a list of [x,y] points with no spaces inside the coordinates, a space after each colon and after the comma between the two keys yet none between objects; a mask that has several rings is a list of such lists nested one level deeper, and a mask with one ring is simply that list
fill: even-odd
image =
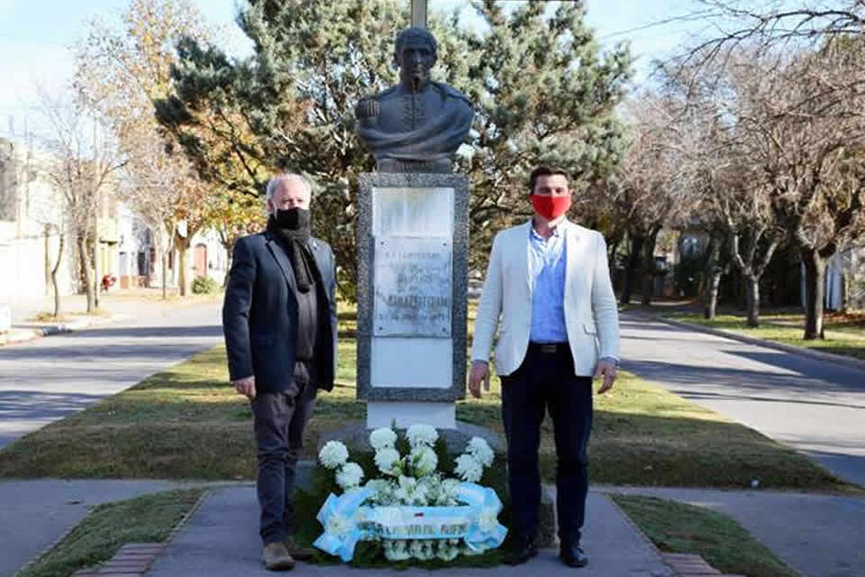
[{"label": "sunlit grass strip under bare trees beyond the right-hand street", "polygon": [[833,322],[830,316],[825,323],[825,339],[806,341],[802,339],[804,321],[801,315],[778,313],[760,316],[760,326],[753,328],[747,325],[746,317],[742,315],[719,315],[712,321],[702,316],[688,313],[670,315],[670,318],[695,325],[744,334],[758,339],[766,339],[775,343],[784,343],[824,353],[843,354],[858,359],[865,359],[865,329],[840,321]]}]

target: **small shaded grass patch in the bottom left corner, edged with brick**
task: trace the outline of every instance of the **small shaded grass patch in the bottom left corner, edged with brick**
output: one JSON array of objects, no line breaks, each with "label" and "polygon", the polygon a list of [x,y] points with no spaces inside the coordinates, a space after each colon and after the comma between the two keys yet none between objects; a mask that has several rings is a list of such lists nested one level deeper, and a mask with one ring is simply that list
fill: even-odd
[{"label": "small shaded grass patch in the bottom left corner, edged with brick", "polygon": [[50,552],[17,577],[68,577],[111,559],[127,543],[161,543],[204,489],[171,490],[99,505]]}]

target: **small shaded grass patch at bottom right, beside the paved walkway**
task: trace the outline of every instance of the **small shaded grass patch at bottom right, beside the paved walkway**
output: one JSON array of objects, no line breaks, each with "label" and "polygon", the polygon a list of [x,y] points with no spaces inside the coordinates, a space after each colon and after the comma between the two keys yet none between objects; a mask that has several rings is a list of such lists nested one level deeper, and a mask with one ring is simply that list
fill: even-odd
[{"label": "small shaded grass patch at bottom right, beside the paved walkway", "polygon": [[669,499],[610,495],[661,551],[699,554],[724,573],[799,577],[731,517]]}]

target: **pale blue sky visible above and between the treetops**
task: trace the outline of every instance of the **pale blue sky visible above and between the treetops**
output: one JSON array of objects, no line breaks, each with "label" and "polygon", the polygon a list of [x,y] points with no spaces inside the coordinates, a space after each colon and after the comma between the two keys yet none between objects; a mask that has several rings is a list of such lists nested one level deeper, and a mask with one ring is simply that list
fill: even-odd
[{"label": "pale blue sky visible above and between the treetops", "polygon": [[[209,23],[226,29],[230,47],[244,50],[244,37],[233,24],[235,0],[194,1]],[[429,3],[432,10],[464,4]],[[117,23],[127,5],[128,0],[0,0],[0,136],[9,134],[10,124],[15,133],[23,131],[24,116],[35,114],[27,110],[36,105],[37,86],[62,90],[74,66],[68,47],[83,37],[87,23],[97,16]],[[698,32],[700,23],[643,27],[687,14],[691,7],[689,0],[587,0],[587,19],[605,44],[631,41],[640,65],[667,54],[689,32]]]}]

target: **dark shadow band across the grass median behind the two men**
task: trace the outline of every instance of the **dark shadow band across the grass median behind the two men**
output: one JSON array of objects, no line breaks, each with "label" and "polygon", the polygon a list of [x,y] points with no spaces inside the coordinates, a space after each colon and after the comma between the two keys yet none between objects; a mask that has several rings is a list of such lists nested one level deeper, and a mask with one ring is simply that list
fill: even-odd
[{"label": "dark shadow band across the grass median behind the two men", "polygon": [[[19,439],[0,451],[0,477],[254,478],[251,415],[242,401],[190,400],[168,409],[159,398],[142,398],[134,405],[134,418],[100,406]],[[324,431],[364,414],[361,403],[320,397],[303,457],[314,458]],[[494,407],[463,408],[460,417],[501,431]],[[551,437],[545,426],[541,462],[548,482],[555,478]],[[843,485],[806,456],[745,426],[699,418],[598,410],[589,455],[591,479],[600,483],[743,488],[759,478],[773,489]]]}]

